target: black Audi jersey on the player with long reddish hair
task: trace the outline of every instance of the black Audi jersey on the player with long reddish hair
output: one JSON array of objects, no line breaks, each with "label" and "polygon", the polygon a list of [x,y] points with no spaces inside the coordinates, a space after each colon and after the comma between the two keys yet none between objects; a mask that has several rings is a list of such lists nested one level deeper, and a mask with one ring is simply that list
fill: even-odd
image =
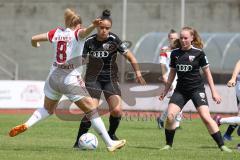
[{"label": "black Audi jersey on the player with long reddish hair", "polygon": [[183,92],[191,92],[195,89],[204,88],[204,81],[200,74],[200,68],[209,65],[203,50],[192,47],[183,51],[175,49],[171,53],[170,67],[177,72],[176,89]]}]

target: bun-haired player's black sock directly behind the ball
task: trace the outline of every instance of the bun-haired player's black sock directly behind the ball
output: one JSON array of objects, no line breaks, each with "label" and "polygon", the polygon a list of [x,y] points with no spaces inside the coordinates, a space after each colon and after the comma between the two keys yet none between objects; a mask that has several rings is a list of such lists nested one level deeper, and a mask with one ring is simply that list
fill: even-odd
[{"label": "bun-haired player's black sock directly behind the ball", "polygon": [[78,140],[79,138],[84,134],[84,133],[87,133],[89,128],[91,127],[91,121],[86,117],[84,116],[81,120],[81,123],[80,123],[80,126],[79,126],[79,130],[78,130],[78,135],[77,135],[77,138],[76,138],[76,142],[74,145],[77,145],[78,144]]}]

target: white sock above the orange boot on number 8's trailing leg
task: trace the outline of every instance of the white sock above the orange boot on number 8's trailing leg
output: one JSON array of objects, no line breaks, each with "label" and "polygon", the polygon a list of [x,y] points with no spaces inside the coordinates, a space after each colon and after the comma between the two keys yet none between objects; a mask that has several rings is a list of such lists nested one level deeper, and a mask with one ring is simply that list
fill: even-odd
[{"label": "white sock above the orange boot on number 8's trailing leg", "polygon": [[33,112],[32,116],[27,120],[27,122],[25,124],[29,128],[29,127],[33,126],[34,124],[38,123],[39,121],[45,119],[49,115],[50,114],[48,113],[48,111],[45,108],[39,108]]}]

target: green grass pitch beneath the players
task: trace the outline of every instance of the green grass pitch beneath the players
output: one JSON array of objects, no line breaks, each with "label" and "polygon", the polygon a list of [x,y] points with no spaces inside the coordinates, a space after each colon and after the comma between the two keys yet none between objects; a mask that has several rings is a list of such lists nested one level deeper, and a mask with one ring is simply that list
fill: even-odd
[{"label": "green grass pitch beneath the players", "polygon": [[[174,149],[160,151],[165,144],[164,130],[157,128],[154,120],[122,120],[117,135],[127,140],[127,145],[109,153],[98,137],[99,146],[94,151],[72,148],[79,122],[63,121],[52,116],[25,133],[8,137],[11,127],[18,125],[29,115],[0,115],[0,159],[1,160],[239,160],[236,149],[240,137],[236,132],[233,141],[226,145],[233,153],[221,152],[200,119],[183,120],[182,129],[177,130]],[[108,119],[104,118],[106,127]],[[221,126],[224,132],[227,125]],[[96,133],[93,130],[90,132]]]}]

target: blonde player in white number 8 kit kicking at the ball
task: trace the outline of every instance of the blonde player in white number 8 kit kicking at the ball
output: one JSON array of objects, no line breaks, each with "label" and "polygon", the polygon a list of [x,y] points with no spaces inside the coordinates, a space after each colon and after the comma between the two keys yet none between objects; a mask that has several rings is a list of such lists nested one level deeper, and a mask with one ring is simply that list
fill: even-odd
[{"label": "blonde player in white number 8 kit kicking at the ball", "polygon": [[[14,137],[53,114],[60,98],[65,94],[86,113],[93,128],[106,143],[108,151],[114,151],[124,146],[126,140],[114,141],[109,137],[102,119],[97,115],[97,106],[94,105],[92,98],[84,87],[80,73],[75,68],[77,66],[71,63],[72,59],[81,56],[84,38],[101,23],[101,20],[95,19],[88,28],[81,28],[80,16],[71,9],[65,10],[64,20],[65,28],[58,27],[47,33],[32,37],[33,47],[40,47],[39,42],[50,41],[55,54],[52,68],[44,86],[44,107],[37,109],[24,124],[12,128],[9,136]],[[78,91],[73,93],[72,86]]]}]

